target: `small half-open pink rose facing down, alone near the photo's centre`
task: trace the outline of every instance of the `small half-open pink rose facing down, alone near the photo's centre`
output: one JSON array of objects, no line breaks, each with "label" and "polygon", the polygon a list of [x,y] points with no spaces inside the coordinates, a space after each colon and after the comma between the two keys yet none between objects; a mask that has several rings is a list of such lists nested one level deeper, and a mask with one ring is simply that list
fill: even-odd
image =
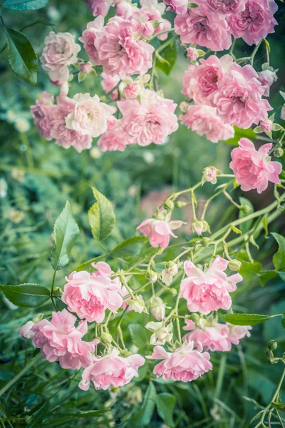
[{"label": "small half-open pink rose facing down, alone near the photo's centre", "polygon": [[137,230],[143,233],[144,236],[149,236],[150,245],[154,248],[167,248],[170,242],[170,236],[177,238],[172,230],[181,228],[185,223],[180,220],[174,220],[167,223],[164,220],[155,220],[154,218],[147,218],[138,226]]}]

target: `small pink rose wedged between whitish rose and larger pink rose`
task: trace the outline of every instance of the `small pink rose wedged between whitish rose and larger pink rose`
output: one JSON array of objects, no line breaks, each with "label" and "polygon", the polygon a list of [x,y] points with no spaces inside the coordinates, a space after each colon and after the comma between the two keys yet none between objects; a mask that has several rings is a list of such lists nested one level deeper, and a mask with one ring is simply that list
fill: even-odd
[{"label": "small pink rose wedged between whitish rose and larger pink rose", "polygon": [[126,133],[122,126],[122,120],[114,116],[108,118],[108,128],[98,140],[100,151],[124,151],[127,146],[135,143],[135,140]]}]

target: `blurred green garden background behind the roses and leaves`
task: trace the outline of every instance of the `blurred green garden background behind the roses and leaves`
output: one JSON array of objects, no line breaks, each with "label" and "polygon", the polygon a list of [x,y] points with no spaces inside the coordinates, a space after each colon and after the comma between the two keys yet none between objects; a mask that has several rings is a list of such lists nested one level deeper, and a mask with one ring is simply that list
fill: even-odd
[{"label": "blurred green garden background behind the roses and leaves", "polygon": [[[279,90],[285,85],[284,55],[284,5],[279,1],[276,19],[279,26],[276,33],[268,37],[271,45],[271,66],[279,68],[279,79],[271,87],[270,103],[276,111],[276,122],[282,123],[280,110],[282,98]],[[18,12],[3,11],[6,27],[24,29],[38,55],[43,49],[43,41],[49,31],[71,31],[81,36],[86,24],[93,20],[88,7],[81,0],[50,1],[46,8]],[[172,14],[167,19],[172,20]],[[1,46],[5,44],[4,31],[0,29]],[[250,55],[252,48],[237,42],[237,57]],[[83,50],[80,56],[86,58]],[[261,49],[256,56],[256,68],[266,61],[265,52]],[[172,98],[179,106],[184,96],[182,75],[189,61],[180,49],[177,61],[170,76],[159,73],[160,88],[166,98]],[[228,143],[213,144],[197,136],[192,131],[180,126],[162,146],[130,146],[124,153],[101,153],[95,141],[90,151],[78,154],[73,148],[65,150],[56,146],[53,141],[40,138],[31,120],[29,108],[35,103],[41,91],[57,93],[58,88],[48,82],[48,76],[40,67],[38,86],[33,87],[17,78],[10,70],[6,50],[0,56],[0,276],[1,283],[19,284],[36,282],[48,285],[53,272],[49,255],[53,246],[53,223],[63,209],[66,200],[71,202],[71,209],[81,229],[81,235],[73,248],[72,266],[58,272],[57,284],[63,286],[64,277],[72,267],[102,254],[102,248],[95,243],[88,226],[87,211],[93,204],[90,185],[94,185],[115,205],[116,224],[112,236],[105,247],[109,250],[135,233],[135,228],[142,220],[152,215],[172,190],[188,188],[197,183],[204,167],[214,165],[224,173],[230,173],[229,153],[240,138]],[[104,95],[100,78],[87,76],[78,85],[76,79],[71,86],[71,96],[78,92],[90,92]],[[177,115],[179,114],[177,108]],[[252,136],[252,133],[248,134]],[[259,142],[257,142],[259,144]],[[198,198],[206,199],[212,192],[211,185],[204,185]],[[249,192],[246,195],[235,190],[234,198],[244,196],[259,209],[273,200],[272,188],[262,195]],[[190,239],[191,215],[188,208],[182,213],[182,219],[188,224],[184,229],[184,239]],[[177,213],[179,217],[180,213]],[[227,205],[224,199],[217,198],[212,205],[207,221],[212,230],[219,227],[237,213]],[[283,217],[283,219],[282,219]],[[284,216],[281,216],[270,231],[278,233],[284,230]],[[273,238],[260,238],[259,250],[253,255],[261,260],[264,267],[271,265],[271,256],[276,250]],[[285,311],[284,282],[274,279],[261,287],[254,272],[247,274],[247,282],[237,293],[234,309],[242,312],[275,314]],[[1,330],[0,330],[0,387],[19,370],[27,350],[18,337],[19,327],[31,319],[31,310],[11,305],[0,295]],[[132,317],[133,315],[130,315]],[[280,342],[280,355],[285,351],[285,336],[279,318],[264,325],[254,327],[251,339],[246,339],[242,346],[234,347],[226,355],[213,355],[214,371],[192,384],[163,384],[157,382],[162,392],[172,392],[177,399],[175,409],[175,427],[249,427],[249,420],[257,412],[252,402],[243,397],[252,397],[261,405],[266,405],[274,392],[280,377],[280,367],[272,367],[266,362],[266,342],[276,339]],[[59,426],[52,419],[53,407],[48,408],[51,419],[46,422],[29,425],[29,406],[41,403],[41,396],[58,391],[57,399],[63,400],[63,406],[69,403],[74,409],[101,409],[112,404],[112,422],[98,422],[98,427],[109,427],[115,424],[134,427],[125,422],[126,411],[135,412],[141,405],[142,396],[147,384],[135,383],[112,392],[83,393],[73,385],[62,382],[68,374],[58,370],[57,365],[48,365],[41,361],[33,369],[33,375],[25,380],[18,390],[11,392],[9,404],[1,404],[0,415],[5,412],[11,418],[2,422],[4,427],[13,426]],[[130,390],[129,390],[130,389]],[[130,393],[130,391],[133,391]],[[28,398],[27,398],[28,397]],[[65,401],[64,401],[65,400]],[[50,400],[52,402],[52,399]],[[39,407],[40,408],[40,407]],[[57,410],[55,410],[56,412]],[[15,414],[19,414],[15,419]],[[7,416],[7,414],[6,414]],[[25,419],[26,417],[26,419]],[[14,418],[12,420],[12,418]],[[9,420],[9,424],[7,422]],[[42,420],[42,419],[41,419]],[[61,427],[95,426],[92,417],[60,422]],[[100,420],[100,419],[99,419]],[[13,422],[14,421],[14,422]],[[48,421],[48,422],[47,422]],[[56,424],[57,423],[57,424]],[[113,425],[112,425],[113,424]],[[162,427],[163,421],[158,414],[152,417],[151,427]],[[166,425],[164,425],[166,427]]]}]

